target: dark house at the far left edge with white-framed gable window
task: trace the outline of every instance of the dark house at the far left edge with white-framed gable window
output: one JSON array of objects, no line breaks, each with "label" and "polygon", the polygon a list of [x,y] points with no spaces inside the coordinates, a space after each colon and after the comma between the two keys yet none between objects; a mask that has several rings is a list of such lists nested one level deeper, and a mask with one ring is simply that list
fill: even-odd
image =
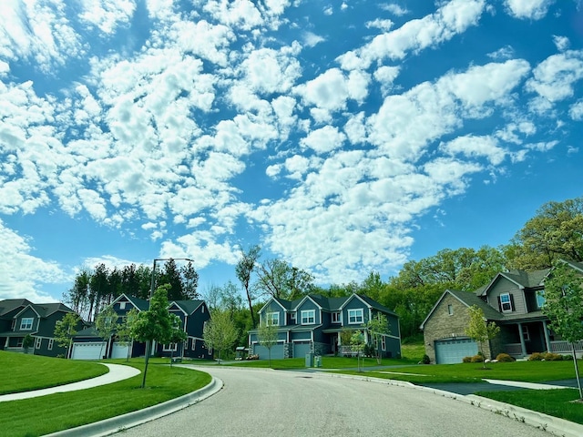
[{"label": "dark house at the far left edge with white-framed gable window", "polygon": [[[74,312],[62,303],[33,303],[26,299],[0,300],[0,348],[24,352],[26,335],[34,339],[27,353],[56,357],[67,349],[56,344],[56,324],[66,313]],[[81,326],[81,324],[79,324]]]}]

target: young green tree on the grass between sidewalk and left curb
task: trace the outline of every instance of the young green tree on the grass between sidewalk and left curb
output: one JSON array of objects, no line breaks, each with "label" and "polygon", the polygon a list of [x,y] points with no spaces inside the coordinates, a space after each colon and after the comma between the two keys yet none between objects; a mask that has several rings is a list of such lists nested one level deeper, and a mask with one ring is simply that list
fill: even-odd
[{"label": "young green tree on the grass between sidewalk and left curb", "polygon": [[146,358],[141,388],[146,386],[148,359],[152,341],[168,344],[176,330],[176,315],[168,310],[169,284],[159,287],[149,300],[149,310],[140,311],[134,321],[132,335],[138,341],[146,342]]}]

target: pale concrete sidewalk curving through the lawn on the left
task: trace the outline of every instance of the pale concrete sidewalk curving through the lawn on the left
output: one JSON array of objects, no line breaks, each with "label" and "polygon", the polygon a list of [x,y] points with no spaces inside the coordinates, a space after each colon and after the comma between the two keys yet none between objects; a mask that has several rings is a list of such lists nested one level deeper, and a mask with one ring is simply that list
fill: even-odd
[{"label": "pale concrete sidewalk curving through the lawn on the left", "polygon": [[106,385],[111,384],[112,382],[124,381],[140,373],[140,371],[134,367],[124,366],[121,364],[107,364],[105,362],[100,362],[99,364],[103,364],[104,366],[107,366],[107,368],[109,369],[109,371],[105,375],[97,376],[95,378],[91,378],[85,381],[73,382],[71,384],[57,385],[56,387],[49,387],[48,389],[4,394],[0,396],[0,402],[36,398],[37,396],[46,396],[47,394],[62,393],[65,391],[91,389],[99,385]]}]

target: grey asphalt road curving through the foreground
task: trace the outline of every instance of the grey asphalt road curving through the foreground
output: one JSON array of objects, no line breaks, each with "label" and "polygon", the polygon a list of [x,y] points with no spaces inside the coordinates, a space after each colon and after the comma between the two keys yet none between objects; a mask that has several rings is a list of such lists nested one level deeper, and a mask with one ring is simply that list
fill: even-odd
[{"label": "grey asphalt road curving through the foreground", "polygon": [[205,367],[224,382],[209,399],[120,437],[548,437],[547,432],[430,391],[320,373]]}]

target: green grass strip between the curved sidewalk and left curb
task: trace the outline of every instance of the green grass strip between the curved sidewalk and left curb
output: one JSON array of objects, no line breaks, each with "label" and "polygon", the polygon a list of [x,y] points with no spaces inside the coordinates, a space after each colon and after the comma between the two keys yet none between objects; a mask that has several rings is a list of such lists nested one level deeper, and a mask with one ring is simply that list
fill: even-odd
[{"label": "green grass strip between the curved sidewalk and left curb", "polygon": [[[51,363],[55,366],[56,371],[60,371],[59,366],[63,365],[68,371],[74,373],[74,376],[77,376],[75,370],[77,365],[82,371],[88,364],[106,369],[105,366],[85,361],[47,360],[56,361],[56,363]],[[132,359],[129,362],[125,360],[109,360],[107,362],[128,364],[143,371],[143,359]],[[5,367],[2,369],[6,371]],[[41,381],[46,375],[44,370],[39,369],[39,371],[40,373],[32,371],[26,376],[31,381],[31,386],[42,385]],[[75,379],[78,381],[78,378]],[[208,373],[200,371],[177,366],[170,368],[168,360],[152,359],[148,365],[148,380],[145,389],[139,388],[141,381],[142,374],[140,373],[126,381],[93,389],[56,393],[22,401],[0,402],[0,423],[10,423],[11,436],[44,435],[169,401],[206,386],[210,383],[211,378]]]}]

